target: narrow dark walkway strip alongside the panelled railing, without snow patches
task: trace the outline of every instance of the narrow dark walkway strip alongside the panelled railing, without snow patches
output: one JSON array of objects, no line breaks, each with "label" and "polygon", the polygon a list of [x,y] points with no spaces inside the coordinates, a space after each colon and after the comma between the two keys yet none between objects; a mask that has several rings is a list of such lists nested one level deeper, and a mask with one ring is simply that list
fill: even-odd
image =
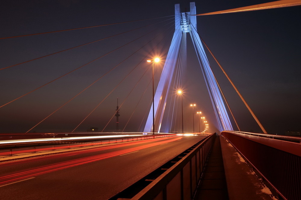
[{"label": "narrow dark walkway strip alongside the panelled railing, without snow patches", "polygon": [[194,198],[195,200],[229,199],[219,137],[220,136],[217,136],[213,143],[213,147],[207,160],[201,183]]}]

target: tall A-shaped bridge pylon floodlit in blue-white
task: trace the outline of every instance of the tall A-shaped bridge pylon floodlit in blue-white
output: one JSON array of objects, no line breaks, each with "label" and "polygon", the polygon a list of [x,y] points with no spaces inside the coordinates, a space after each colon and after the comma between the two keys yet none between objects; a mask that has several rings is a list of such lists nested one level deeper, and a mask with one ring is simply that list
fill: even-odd
[{"label": "tall A-shaped bridge pylon floodlit in blue-white", "polygon": [[[163,114],[166,108],[166,100],[171,86],[172,76],[175,70],[175,64],[177,58],[179,57],[180,43],[182,41],[182,38],[185,38],[186,41],[186,33],[189,33],[191,36],[191,40],[194,45],[198,61],[200,63],[201,70],[203,72],[206,86],[208,88],[213,109],[216,114],[217,121],[219,123],[219,130],[233,130],[227,110],[225,109],[225,105],[222,100],[221,93],[219,91],[219,87],[210,68],[200,37],[197,33],[196,16],[192,16],[195,14],[196,7],[194,2],[190,3],[190,12],[185,13],[180,13],[180,4],[175,4],[175,33],[173,35],[172,42],[170,44],[166,61],[162,70],[162,74],[157,86],[157,90],[154,95],[154,130],[158,133],[160,133]],[[152,110],[153,106],[151,106],[151,110],[144,127],[144,132],[152,132],[153,130]],[[165,128],[164,132],[170,132],[170,129],[166,129],[169,128]]]}]

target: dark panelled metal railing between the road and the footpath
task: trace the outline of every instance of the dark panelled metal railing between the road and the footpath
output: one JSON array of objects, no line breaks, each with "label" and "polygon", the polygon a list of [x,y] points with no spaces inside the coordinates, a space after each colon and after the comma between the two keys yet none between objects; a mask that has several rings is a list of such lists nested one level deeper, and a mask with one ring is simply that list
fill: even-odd
[{"label": "dark panelled metal railing between the road and the footpath", "polygon": [[[163,199],[192,199],[200,181],[207,157],[209,156],[216,133],[203,139],[190,149],[175,157],[157,170],[164,171],[155,179],[148,175],[111,199],[132,200],[163,200]],[[178,161],[174,161],[178,160]],[[166,166],[171,165],[169,168]],[[161,169],[162,168],[162,169]],[[156,170],[155,170],[156,171]],[[153,175],[151,175],[153,176]],[[144,181],[144,182],[141,182]],[[132,194],[132,188],[141,187],[138,193]],[[129,189],[129,190],[128,190]],[[131,195],[131,196],[129,196]]]}]

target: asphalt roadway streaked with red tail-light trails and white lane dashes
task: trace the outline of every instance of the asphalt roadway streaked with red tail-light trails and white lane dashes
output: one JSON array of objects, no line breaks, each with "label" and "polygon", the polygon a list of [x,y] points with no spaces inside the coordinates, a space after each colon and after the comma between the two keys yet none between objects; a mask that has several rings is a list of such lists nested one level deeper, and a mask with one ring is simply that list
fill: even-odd
[{"label": "asphalt roadway streaked with red tail-light trails and white lane dashes", "polygon": [[0,199],[108,199],[204,137],[125,142],[0,163]]}]

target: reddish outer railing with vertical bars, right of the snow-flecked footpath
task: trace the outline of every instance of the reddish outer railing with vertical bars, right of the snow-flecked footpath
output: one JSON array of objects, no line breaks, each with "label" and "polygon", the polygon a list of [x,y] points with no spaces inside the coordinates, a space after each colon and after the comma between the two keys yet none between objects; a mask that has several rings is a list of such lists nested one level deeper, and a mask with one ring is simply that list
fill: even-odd
[{"label": "reddish outer railing with vertical bars, right of the snow-flecked footpath", "polygon": [[301,138],[221,133],[284,199],[301,199]]}]

